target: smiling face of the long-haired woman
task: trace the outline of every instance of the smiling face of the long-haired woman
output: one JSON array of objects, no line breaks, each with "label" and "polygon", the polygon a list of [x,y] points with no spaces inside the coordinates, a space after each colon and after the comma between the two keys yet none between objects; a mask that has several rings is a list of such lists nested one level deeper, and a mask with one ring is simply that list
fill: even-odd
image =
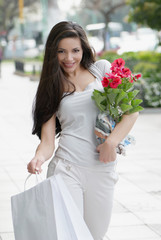
[{"label": "smiling face of the long-haired woman", "polygon": [[74,73],[80,67],[83,49],[79,38],[64,38],[58,45],[58,61],[63,70]]}]

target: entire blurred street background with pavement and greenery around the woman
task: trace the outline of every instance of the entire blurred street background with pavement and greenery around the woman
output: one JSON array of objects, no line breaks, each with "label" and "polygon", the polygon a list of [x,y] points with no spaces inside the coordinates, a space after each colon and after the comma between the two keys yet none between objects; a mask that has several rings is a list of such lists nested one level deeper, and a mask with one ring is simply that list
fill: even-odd
[{"label": "entire blurred street background with pavement and greenery around the woman", "polygon": [[[161,0],[0,1],[0,240],[14,240],[10,198],[24,190],[39,143],[32,103],[46,38],[57,22],[86,31],[97,59],[123,58],[142,78],[144,111],[136,145],[119,157],[113,216],[106,240],[161,239]],[[48,162],[44,164],[44,178]],[[35,184],[32,177],[28,187]]]}]

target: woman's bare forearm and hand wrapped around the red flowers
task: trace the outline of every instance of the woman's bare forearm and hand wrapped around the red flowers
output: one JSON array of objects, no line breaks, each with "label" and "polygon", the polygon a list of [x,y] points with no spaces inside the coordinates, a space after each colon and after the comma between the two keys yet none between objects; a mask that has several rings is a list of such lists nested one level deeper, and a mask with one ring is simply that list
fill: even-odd
[{"label": "woman's bare forearm and hand wrapped around the red flowers", "polygon": [[123,115],[122,120],[115,126],[106,141],[97,147],[101,162],[112,162],[116,159],[116,147],[128,135],[138,115],[138,112]]}]

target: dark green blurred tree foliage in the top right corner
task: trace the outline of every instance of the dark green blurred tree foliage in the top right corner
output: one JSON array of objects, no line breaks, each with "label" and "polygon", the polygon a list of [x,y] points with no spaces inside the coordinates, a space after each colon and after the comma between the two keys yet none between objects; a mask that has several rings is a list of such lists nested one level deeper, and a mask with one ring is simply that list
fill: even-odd
[{"label": "dark green blurred tree foliage in the top right corner", "polygon": [[161,30],[161,0],[128,0],[129,21]]}]

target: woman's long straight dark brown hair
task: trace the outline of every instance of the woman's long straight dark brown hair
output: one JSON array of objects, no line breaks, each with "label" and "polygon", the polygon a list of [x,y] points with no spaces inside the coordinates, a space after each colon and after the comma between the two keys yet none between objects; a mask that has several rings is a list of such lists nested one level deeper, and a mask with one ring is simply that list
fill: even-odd
[{"label": "woman's long straight dark brown hair", "polygon": [[[47,122],[58,110],[61,99],[64,97],[64,83],[67,86],[72,84],[68,81],[61,69],[58,58],[58,44],[64,38],[79,38],[83,49],[81,65],[89,69],[95,62],[95,53],[89,45],[85,31],[76,23],[63,21],[56,24],[50,31],[47,38],[45,55],[42,66],[39,86],[33,104],[33,130],[32,134],[37,134],[41,139],[42,125]],[[75,87],[73,86],[73,92]],[[72,92],[72,93],[73,93]],[[56,118],[56,134],[61,132],[61,126]]]}]

